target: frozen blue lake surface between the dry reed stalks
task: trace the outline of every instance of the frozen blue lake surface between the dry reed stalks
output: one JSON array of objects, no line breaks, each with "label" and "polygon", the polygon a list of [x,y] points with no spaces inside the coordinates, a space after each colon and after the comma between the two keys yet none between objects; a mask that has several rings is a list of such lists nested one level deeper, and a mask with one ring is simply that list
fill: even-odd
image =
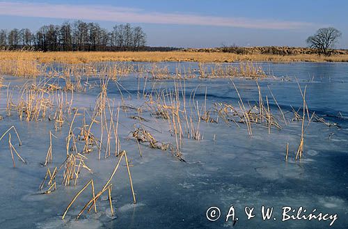
[{"label": "frozen blue lake surface between the dry reed stalks", "polygon": [[[134,63],[139,65],[139,63]],[[151,65],[141,63],[141,65]],[[177,63],[160,63],[175,74]],[[178,81],[173,79],[155,81],[138,79],[136,74],[121,77],[118,82],[109,81],[107,95],[117,106],[141,107],[120,109],[118,134],[122,150],[126,150],[137,203],[132,203],[132,192],[125,162],[113,177],[112,201],[115,215],[111,216],[109,200],[102,196],[97,203],[97,214],[84,213],[76,216],[90,199],[90,191],[79,198],[62,220],[65,208],[84,185],[93,179],[100,190],[109,179],[118,157],[98,159],[97,150],[90,152],[87,166],[93,170],[81,171],[77,185],[65,187],[61,176],[57,177],[56,191],[40,194],[38,188],[45,177],[45,163],[49,148],[49,131],[56,136],[52,140],[52,164],[60,166],[66,159],[66,137],[69,122],[74,112],[66,115],[68,123],[54,129],[54,122],[47,118],[40,121],[20,121],[17,111],[11,116],[6,112],[6,85],[13,93],[14,102],[20,97],[22,86],[33,79],[5,76],[0,88],[0,134],[15,125],[22,140],[19,146],[15,134],[13,145],[26,160],[15,158],[16,167],[8,148],[8,136],[0,141],[0,225],[1,228],[347,228],[348,226],[348,64],[347,63],[262,63],[272,77],[259,79],[263,100],[269,100],[269,109],[278,117],[282,129],[269,129],[252,123],[253,135],[248,134],[244,123],[228,123],[219,118],[217,123],[200,121],[203,139],[196,141],[183,137],[180,151],[186,161],[180,161],[164,150],[137,145],[129,136],[134,125],[144,125],[161,142],[175,145],[176,138],[169,132],[168,120],[155,117],[148,109],[148,97],[143,93],[164,90],[173,92]],[[198,69],[196,63],[180,63],[180,68]],[[40,79],[36,79],[39,81]],[[83,79],[84,81],[84,79]],[[258,86],[254,79],[232,79],[246,106],[258,106]],[[239,96],[231,79],[186,79],[185,95],[195,91],[194,100],[205,109],[214,109],[214,103],[238,106]],[[298,83],[299,85],[298,85]],[[100,79],[89,77],[88,83],[100,84]],[[63,84],[63,81],[62,81]],[[313,112],[326,122],[310,122],[304,134],[303,157],[295,160],[301,140],[301,121],[293,120],[294,110],[302,115],[303,97],[299,90],[306,87],[306,103],[309,115]],[[139,89],[140,88],[140,89]],[[285,114],[286,124],[274,101]],[[88,88],[86,92],[74,92],[72,106],[92,113],[100,87]],[[139,93],[141,95],[139,95]],[[180,97],[183,95],[179,89]],[[68,93],[71,96],[71,93]],[[115,111],[116,113],[116,111]],[[194,113],[194,112],[193,112]],[[52,114],[53,116],[53,114]],[[141,116],[144,120],[135,120]],[[219,115],[212,112],[212,118]],[[307,117],[307,114],[306,114]],[[80,127],[82,116],[77,116],[73,127]],[[194,120],[193,120],[194,122]],[[306,120],[306,125],[308,120]],[[239,125],[239,127],[238,127]],[[100,135],[100,127],[93,129]],[[74,130],[76,131],[76,129]],[[11,132],[12,133],[12,132]],[[289,143],[289,159],[285,161],[286,145]],[[143,157],[139,156],[139,147]],[[102,152],[103,153],[103,152]],[[59,178],[59,179],[58,179]],[[233,205],[237,221],[232,217],[226,222],[228,210]],[[209,221],[209,207],[219,207],[221,216]],[[255,207],[255,217],[247,220],[244,208]],[[262,220],[261,207],[274,207],[269,220]],[[308,215],[337,214],[330,227],[329,220],[283,219],[282,207],[298,210],[306,208]],[[296,216],[296,213],[293,213]],[[288,213],[290,214],[290,212]],[[303,213],[301,214],[303,215]],[[274,220],[276,218],[276,220]]]}]

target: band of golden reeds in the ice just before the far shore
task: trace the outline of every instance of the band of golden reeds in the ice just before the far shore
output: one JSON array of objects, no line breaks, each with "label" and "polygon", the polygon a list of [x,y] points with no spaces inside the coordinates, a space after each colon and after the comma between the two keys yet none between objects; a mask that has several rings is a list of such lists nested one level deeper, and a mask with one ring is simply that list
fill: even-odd
[{"label": "band of golden reeds in the ice just before the far shore", "polygon": [[[25,52],[24,52],[25,53]],[[0,60],[1,61],[1,60]],[[132,63],[50,63],[39,64],[19,58],[15,61],[0,62],[0,75],[8,74],[16,77],[47,77],[47,79],[63,79],[64,84],[59,85],[56,80],[47,83],[48,90],[63,88],[67,91],[86,92],[95,85],[88,83],[90,77],[102,79],[107,77],[118,81],[121,77],[135,74],[138,77],[148,77],[154,80],[164,79],[192,79],[192,78],[232,78],[248,77],[253,79],[267,77],[261,66],[253,61],[241,61],[240,63],[198,63],[199,68],[191,66],[182,67],[177,64],[175,72],[170,72],[168,65],[152,63],[150,66],[134,65]]]}]

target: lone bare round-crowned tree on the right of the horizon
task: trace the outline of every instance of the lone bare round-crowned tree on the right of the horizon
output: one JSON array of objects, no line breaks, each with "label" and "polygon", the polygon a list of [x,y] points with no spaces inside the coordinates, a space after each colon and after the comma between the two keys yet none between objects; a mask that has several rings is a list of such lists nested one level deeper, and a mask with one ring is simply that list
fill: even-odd
[{"label": "lone bare round-crowned tree on the right of the horizon", "polygon": [[319,55],[330,56],[335,43],[342,33],[333,27],[318,29],[315,35],[307,38],[306,42],[309,47],[318,49]]}]

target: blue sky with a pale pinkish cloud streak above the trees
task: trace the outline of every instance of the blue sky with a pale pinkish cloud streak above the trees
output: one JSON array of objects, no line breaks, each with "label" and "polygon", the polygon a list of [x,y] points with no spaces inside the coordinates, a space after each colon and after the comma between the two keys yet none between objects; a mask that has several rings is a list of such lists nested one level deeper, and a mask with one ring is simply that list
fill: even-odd
[{"label": "blue sky with a pale pinkish cloud streak above the trees", "polygon": [[0,1],[0,28],[29,28],[82,19],[106,29],[129,22],[148,35],[148,45],[306,46],[326,26],[342,31],[348,49],[347,0],[79,0]]}]

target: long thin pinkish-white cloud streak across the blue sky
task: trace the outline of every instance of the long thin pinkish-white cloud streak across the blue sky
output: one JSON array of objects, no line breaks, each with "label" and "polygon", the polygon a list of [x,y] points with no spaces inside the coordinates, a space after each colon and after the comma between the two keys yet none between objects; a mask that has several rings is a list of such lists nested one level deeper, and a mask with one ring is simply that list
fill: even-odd
[{"label": "long thin pinkish-white cloud streak across the blue sky", "polygon": [[157,13],[145,12],[138,8],[120,8],[113,6],[25,3],[13,1],[0,2],[0,15],[88,19],[108,22],[228,26],[249,29],[303,29],[308,26],[313,26],[312,23],[308,22],[273,21],[242,17],[214,17],[180,13]]}]

